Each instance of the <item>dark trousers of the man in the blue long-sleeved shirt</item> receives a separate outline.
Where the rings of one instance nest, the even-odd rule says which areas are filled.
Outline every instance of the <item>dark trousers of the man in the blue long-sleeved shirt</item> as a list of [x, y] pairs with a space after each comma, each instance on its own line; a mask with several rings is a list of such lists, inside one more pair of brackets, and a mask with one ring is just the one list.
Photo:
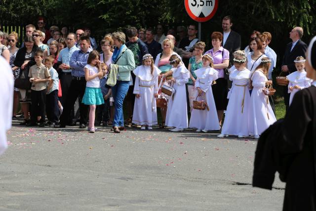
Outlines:
[[85, 91], [86, 81], [84, 77], [75, 78], [72, 80], [69, 90], [68, 96], [65, 102], [63, 113], [61, 114], [59, 121], [61, 126], [65, 126], [69, 121], [71, 111], [74, 108], [74, 104], [79, 98], [79, 111], [80, 111], [80, 124], [87, 124], [87, 116], [88, 116], [88, 109], [87, 105], [81, 103], [84, 91]]

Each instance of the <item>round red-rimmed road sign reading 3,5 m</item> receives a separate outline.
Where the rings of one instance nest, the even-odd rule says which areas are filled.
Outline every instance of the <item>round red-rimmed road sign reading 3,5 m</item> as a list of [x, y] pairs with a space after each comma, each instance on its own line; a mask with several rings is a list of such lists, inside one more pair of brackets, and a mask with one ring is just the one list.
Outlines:
[[184, 0], [189, 16], [197, 22], [211, 19], [218, 6], [218, 0]]

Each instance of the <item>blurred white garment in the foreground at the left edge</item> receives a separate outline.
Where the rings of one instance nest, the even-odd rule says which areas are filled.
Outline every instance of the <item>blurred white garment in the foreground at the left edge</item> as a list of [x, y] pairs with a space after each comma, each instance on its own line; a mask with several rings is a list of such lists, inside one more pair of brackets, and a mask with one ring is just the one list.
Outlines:
[[0, 88], [0, 155], [8, 147], [6, 141], [6, 132], [11, 128], [12, 123], [12, 108], [13, 106], [13, 88], [14, 81], [12, 76], [12, 69], [0, 56], [0, 70], [1, 70], [1, 88]]

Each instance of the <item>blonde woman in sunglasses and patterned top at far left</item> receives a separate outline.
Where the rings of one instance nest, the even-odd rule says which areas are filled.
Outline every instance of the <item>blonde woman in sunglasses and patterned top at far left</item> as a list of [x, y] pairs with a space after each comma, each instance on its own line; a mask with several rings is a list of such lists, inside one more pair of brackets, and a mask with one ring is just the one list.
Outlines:
[[[13, 71], [13, 76], [14, 80], [19, 77], [20, 74], [20, 68], [16, 67], [13, 62], [16, 57], [16, 53], [18, 52], [18, 49], [16, 47], [16, 43], [18, 41], [18, 34], [16, 32], [11, 32], [8, 36], [8, 42], [9, 42], [9, 52], [10, 52], [10, 66]], [[19, 89], [14, 87], [14, 92], [13, 92], [13, 113], [12, 113], [12, 119], [16, 119], [16, 112], [19, 107]]]

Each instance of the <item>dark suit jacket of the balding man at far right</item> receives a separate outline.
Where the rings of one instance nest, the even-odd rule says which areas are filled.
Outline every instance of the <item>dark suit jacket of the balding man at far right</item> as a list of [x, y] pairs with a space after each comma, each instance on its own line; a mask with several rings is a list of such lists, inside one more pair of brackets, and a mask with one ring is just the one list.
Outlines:
[[296, 71], [294, 60], [298, 56], [303, 56], [305, 58], [305, 52], [307, 50], [307, 45], [305, 44], [305, 42], [299, 40], [298, 42], [296, 42], [292, 51], [291, 51], [291, 47], [292, 47], [292, 42], [290, 42], [286, 45], [285, 53], [283, 56], [281, 66], [287, 65], [289, 72], [293, 73]]

